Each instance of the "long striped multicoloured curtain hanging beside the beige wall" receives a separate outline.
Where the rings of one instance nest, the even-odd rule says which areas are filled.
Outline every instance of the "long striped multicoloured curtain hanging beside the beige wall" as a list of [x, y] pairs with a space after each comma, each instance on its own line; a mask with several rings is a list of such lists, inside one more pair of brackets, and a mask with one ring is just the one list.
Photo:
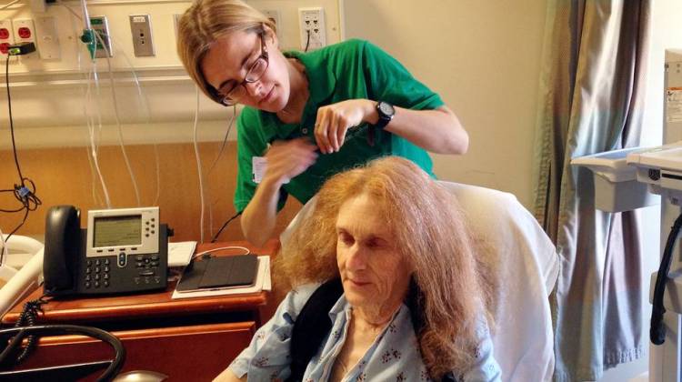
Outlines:
[[595, 380], [642, 356], [637, 214], [595, 209], [589, 170], [570, 160], [637, 146], [650, 0], [549, 0], [537, 117], [535, 213], [557, 244], [558, 381]]

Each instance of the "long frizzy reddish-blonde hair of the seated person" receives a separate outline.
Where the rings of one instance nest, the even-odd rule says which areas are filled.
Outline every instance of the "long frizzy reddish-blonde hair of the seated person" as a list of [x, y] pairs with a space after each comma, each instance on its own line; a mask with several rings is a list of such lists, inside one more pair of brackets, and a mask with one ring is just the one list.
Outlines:
[[[276, 257], [277, 287], [296, 287], [339, 276], [336, 217], [346, 200], [366, 195], [376, 202], [396, 238], [400, 256], [414, 269], [424, 327], [417, 333], [425, 365], [440, 380], [474, 361], [476, 327], [490, 315], [491, 287], [483, 281], [474, 244], [453, 196], [406, 159], [388, 156], [330, 178], [316, 208]], [[417, 312], [413, 312], [415, 314]]]

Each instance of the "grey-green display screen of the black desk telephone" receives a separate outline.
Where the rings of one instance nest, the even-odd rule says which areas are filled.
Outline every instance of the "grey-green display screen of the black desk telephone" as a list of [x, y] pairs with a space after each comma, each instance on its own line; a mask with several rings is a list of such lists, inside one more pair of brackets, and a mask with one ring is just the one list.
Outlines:
[[134, 246], [142, 243], [142, 216], [95, 217], [93, 246]]

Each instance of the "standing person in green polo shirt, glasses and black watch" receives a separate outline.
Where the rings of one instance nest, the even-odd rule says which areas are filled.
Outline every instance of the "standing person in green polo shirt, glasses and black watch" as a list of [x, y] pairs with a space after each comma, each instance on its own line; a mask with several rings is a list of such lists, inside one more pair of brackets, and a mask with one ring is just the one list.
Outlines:
[[[426, 151], [466, 152], [466, 131], [440, 96], [366, 41], [283, 52], [276, 25], [239, 0], [196, 0], [177, 41], [204, 94], [245, 106], [237, 119], [235, 208], [256, 245], [272, 235], [286, 196], [306, 203], [338, 172], [396, 155], [430, 173]], [[351, 128], [356, 133], [346, 135]], [[373, 133], [357, 133], [366, 130]]]

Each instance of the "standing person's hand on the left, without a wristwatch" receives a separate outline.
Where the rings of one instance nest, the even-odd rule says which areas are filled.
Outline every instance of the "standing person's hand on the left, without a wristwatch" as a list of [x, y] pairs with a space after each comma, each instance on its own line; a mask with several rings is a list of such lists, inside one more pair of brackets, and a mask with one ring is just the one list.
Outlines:
[[317, 146], [305, 137], [273, 142], [266, 153], [267, 169], [263, 182], [275, 182], [278, 186], [285, 184], [315, 164], [316, 150]]

